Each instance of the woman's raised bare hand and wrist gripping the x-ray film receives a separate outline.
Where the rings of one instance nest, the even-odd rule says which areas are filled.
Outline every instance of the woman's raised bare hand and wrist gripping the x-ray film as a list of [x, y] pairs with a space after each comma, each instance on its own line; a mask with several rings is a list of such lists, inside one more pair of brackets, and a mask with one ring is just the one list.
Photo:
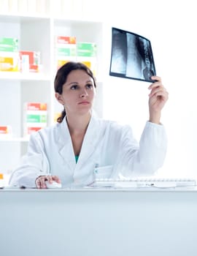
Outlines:
[[169, 98], [169, 93], [163, 86], [160, 77], [152, 76], [151, 79], [156, 80], [156, 82], [148, 87], [151, 90], [149, 94], [150, 121], [160, 124], [161, 110]]

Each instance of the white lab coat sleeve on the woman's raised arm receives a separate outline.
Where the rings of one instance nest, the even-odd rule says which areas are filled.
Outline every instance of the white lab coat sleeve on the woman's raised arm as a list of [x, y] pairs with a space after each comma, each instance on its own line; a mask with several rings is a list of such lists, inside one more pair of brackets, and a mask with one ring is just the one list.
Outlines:
[[[128, 136], [125, 135], [125, 141]], [[162, 124], [153, 124], [147, 121], [139, 146], [134, 150], [129, 143], [125, 143], [125, 162], [129, 168], [124, 170], [125, 176], [153, 176], [157, 170], [163, 166], [166, 157], [167, 138], [166, 131]]]

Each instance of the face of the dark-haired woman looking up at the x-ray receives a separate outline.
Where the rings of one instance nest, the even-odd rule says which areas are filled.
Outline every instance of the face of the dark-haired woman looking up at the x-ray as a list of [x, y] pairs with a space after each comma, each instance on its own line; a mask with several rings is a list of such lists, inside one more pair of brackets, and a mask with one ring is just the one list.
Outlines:
[[79, 69], [69, 73], [62, 94], [56, 93], [55, 97], [64, 106], [67, 115], [84, 114], [92, 109], [95, 94], [93, 79]]

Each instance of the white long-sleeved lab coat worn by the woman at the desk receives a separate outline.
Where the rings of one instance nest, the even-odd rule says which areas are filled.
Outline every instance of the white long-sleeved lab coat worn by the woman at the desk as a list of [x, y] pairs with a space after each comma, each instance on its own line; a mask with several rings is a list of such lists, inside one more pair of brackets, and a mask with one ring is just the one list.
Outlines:
[[76, 163], [72, 140], [64, 118], [61, 124], [34, 132], [28, 152], [12, 173], [12, 186], [35, 187], [41, 175], [56, 175], [63, 187], [87, 185], [99, 178], [152, 176], [166, 156], [166, 132], [163, 125], [147, 121], [139, 143], [131, 127], [92, 116]]

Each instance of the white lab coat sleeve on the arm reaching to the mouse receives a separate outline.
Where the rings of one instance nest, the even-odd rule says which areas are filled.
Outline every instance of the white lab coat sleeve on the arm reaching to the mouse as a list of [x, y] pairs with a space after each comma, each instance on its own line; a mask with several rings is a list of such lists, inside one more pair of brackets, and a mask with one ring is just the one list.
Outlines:
[[34, 188], [38, 176], [49, 174], [49, 166], [42, 138], [39, 132], [35, 132], [29, 140], [27, 154], [9, 178], [9, 185]]

